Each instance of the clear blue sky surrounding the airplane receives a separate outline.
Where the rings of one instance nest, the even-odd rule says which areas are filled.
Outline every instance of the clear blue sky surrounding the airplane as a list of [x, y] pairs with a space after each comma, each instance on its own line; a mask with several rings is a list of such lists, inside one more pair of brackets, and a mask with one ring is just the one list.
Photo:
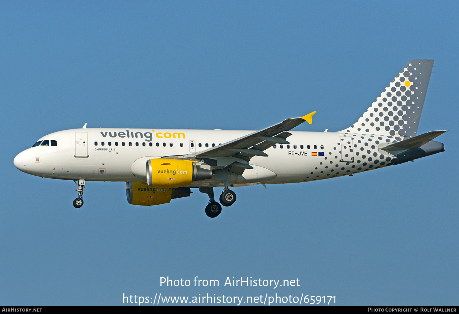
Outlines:
[[[336, 296], [338, 305], [458, 305], [457, 1], [1, 1], [0, 303]], [[312, 183], [134, 207], [124, 183], [17, 170], [40, 137], [88, 127], [338, 131], [411, 59], [435, 59], [418, 132], [445, 152]], [[216, 191], [219, 193], [219, 191]], [[164, 287], [160, 277], [219, 280]], [[300, 279], [229, 287], [227, 277]]]

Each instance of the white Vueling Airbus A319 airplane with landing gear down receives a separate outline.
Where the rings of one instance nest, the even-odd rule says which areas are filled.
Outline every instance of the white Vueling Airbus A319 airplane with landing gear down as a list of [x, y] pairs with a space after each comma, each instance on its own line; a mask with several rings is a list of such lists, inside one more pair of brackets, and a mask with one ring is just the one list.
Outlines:
[[[350, 127], [291, 131], [307, 121], [289, 118], [259, 131], [190, 129], [70, 129], [40, 138], [14, 158], [27, 174], [73, 180], [83, 206], [86, 181], [126, 182], [129, 204], [159, 205], [209, 196], [205, 213], [231, 206], [230, 188], [308, 182], [353, 175], [444, 151], [434, 141], [446, 131], [417, 134], [434, 60], [411, 60]], [[287, 140], [288, 139], [288, 140]], [[215, 201], [213, 188], [223, 187]]]

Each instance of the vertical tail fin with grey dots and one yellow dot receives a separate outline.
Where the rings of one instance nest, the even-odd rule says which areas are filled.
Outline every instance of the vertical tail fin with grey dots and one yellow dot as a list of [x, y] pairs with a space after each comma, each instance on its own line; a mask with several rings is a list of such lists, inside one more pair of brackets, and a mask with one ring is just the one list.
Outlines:
[[351, 127], [340, 132], [416, 136], [434, 60], [411, 60]]

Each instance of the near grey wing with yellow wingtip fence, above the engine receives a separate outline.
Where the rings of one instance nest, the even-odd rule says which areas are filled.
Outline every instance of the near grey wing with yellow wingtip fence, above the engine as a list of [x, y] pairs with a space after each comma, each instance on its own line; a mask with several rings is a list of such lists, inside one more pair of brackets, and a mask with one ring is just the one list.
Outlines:
[[198, 151], [186, 156], [167, 156], [163, 158], [190, 158], [195, 157], [198, 160], [204, 160], [213, 168], [224, 168], [231, 166], [230, 172], [242, 174], [244, 169], [252, 169], [249, 161], [254, 156], [268, 157], [264, 150], [274, 144], [289, 144], [286, 140], [291, 133], [287, 132], [301, 123], [308, 121], [312, 124], [311, 112], [301, 118], [285, 119], [281, 123], [274, 124], [266, 129], [262, 129], [251, 134], [242, 136], [238, 139], [231, 140], [224, 144], [209, 148], [205, 151]]

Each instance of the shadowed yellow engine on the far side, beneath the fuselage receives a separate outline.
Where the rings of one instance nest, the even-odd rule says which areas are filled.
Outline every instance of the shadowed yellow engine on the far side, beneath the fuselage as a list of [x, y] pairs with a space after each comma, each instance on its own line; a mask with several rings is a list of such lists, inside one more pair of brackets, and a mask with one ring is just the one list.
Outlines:
[[171, 199], [190, 196], [190, 188], [176, 189], [150, 187], [145, 182], [126, 182], [126, 196], [132, 205], [159, 205]]

